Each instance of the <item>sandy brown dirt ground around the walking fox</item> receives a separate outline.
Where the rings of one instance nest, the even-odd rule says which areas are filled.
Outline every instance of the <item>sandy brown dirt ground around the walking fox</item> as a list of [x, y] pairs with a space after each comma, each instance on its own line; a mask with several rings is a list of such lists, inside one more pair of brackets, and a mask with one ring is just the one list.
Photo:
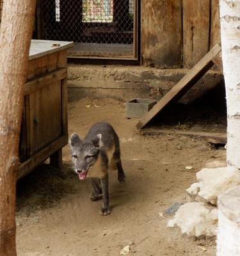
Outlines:
[[115, 256], [127, 244], [128, 255], [215, 255], [215, 237], [182, 235], [179, 228], [166, 227], [172, 217], [159, 212], [191, 200], [185, 189], [206, 161], [225, 159], [222, 147], [174, 134], [140, 134], [134, 128], [137, 120], [125, 118], [124, 103], [113, 99], [70, 95], [68, 118], [69, 134], [81, 137], [95, 122], [115, 127], [127, 180], [118, 184], [116, 170], [111, 171], [113, 211], [100, 216], [101, 200], [89, 200], [90, 182], [78, 179], [69, 147], [63, 148], [62, 170], [44, 164], [17, 185], [19, 256]]

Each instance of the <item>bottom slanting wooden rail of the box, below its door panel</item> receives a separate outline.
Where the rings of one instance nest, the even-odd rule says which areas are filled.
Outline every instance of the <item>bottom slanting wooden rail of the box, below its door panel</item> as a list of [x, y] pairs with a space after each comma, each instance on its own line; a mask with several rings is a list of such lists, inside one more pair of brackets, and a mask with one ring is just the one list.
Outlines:
[[27, 175], [38, 164], [44, 162], [49, 156], [54, 154], [60, 148], [63, 148], [68, 143], [68, 136], [61, 136], [57, 140], [53, 141], [42, 150], [31, 156], [27, 161], [20, 164], [18, 180]]

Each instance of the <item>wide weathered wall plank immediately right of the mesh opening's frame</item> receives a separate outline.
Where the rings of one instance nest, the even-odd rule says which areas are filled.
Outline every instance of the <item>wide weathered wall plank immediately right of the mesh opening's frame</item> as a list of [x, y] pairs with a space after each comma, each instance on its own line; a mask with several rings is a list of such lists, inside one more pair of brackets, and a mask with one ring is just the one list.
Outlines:
[[181, 67], [181, 0], [141, 1], [141, 54], [147, 66]]

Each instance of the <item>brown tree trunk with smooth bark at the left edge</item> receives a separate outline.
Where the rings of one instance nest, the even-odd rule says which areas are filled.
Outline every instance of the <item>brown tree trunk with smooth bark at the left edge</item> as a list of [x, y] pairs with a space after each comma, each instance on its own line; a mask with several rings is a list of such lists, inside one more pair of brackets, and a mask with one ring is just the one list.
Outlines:
[[15, 184], [35, 0], [6, 0], [0, 27], [0, 255], [16, 255]]

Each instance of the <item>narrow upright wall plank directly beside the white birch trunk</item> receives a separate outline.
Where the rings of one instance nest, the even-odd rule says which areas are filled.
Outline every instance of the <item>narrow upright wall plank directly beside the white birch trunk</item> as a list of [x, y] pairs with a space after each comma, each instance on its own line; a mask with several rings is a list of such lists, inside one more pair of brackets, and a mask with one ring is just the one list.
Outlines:
[[214, 47], [216, 44], [221, 42], [221, 31], [220, 31], [220, 10], [219, 0], [211, 1], [211, 40], [210, 47]]

